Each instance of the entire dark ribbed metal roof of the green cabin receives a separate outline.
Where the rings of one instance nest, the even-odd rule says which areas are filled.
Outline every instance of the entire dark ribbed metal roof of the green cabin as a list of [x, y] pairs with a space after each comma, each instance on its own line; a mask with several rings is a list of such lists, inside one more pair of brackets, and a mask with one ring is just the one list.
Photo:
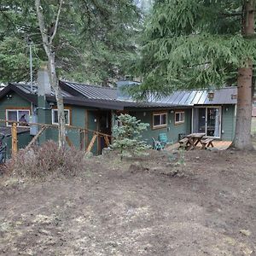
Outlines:
[[[106, 109], [124, 109], [124, 108], [191, 108], [195, 105], [223, 105], [236, 104], [236, 87], [226, 87], [214, 90], [212, 101], [208, 99], [207, 90], [177, 90], [170, 96], [166, 96], [154, 102], [132, 102], [120, 101], [117, 99], [117, 90], [93, 86], [88, 84], [77, 84], [60, 81], [61, 93], [64, 103]], [[9, 84], [0, 91], [0, 98], [14, 90], [27, 101], [37, 105], [37, 86], [33, 86], [31, 92], [28, 84]], [[54, 92], [47, 96], [48, 101], [55, 102]]]

